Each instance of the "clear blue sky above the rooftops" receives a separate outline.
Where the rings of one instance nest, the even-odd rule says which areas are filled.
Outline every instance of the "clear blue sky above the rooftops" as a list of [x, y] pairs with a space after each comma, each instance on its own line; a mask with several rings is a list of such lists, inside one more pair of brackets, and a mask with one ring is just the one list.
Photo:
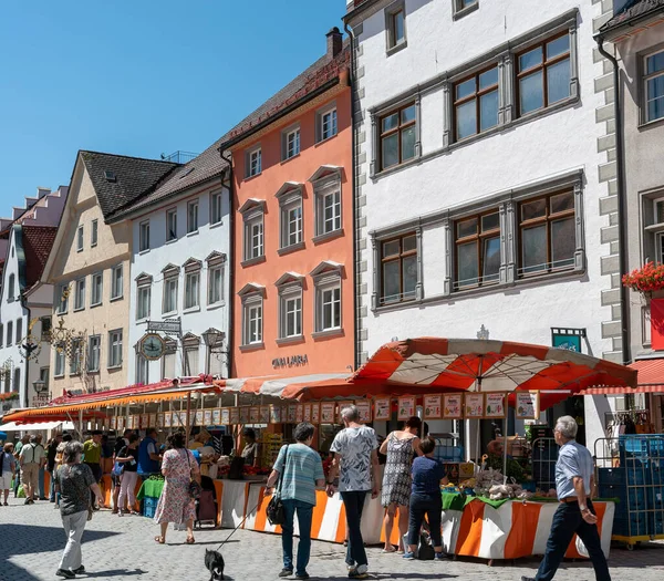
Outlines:
[[0, 215], [79, 149], [200, 153], [325, 51], [344, 0], [6, 2]]

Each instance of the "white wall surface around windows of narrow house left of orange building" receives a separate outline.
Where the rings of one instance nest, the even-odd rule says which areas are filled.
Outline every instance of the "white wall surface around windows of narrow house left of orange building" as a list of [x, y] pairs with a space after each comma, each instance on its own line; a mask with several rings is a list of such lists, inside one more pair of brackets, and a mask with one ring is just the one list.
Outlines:
[[[193, 333], [200, 338], [200, 334], [209, 328], [215, 328], [229, 336], [228, 329], [228, 305], [229, 305], [229, 271], [228, 262], [224, 266], [224, 301], [219, 305], [208, 307], [208, 264], [206, 258], [214, 251], [230, 256], [230, 224], [229, 224], [229, 194], [228, 189], [222, 190], [222, 210], [221, 222], [210, 226], [210, 194], [219, 191], [219, 186], [198, 188], [195, 193], [187, 191], [175, 200], [165, 203], [159, 208], [149, 214], [136, 217], [132, 222], [133, 236], [133, 256], [131, 268], [131, 307], [129, 307], [129, 352], [128, 352], [128, 378], [129, 383], [136, 381], [136, 351], [135, 345], [146, 332], [145, 320], [136, 320], [137, 309], [137, 284], [136, 278], [142, 274], [153, 277], [151, 291], [151, 320], [160, 321], [181, 317], [183, 334]], [[195, 234], [186, 234], [187, 228], [187, 204], [198, 199], [198, 230]], [[166, 211], [177, 208], [177, 239], [166, 242]], [[141, 224], [149, 220], [151, 227], [151, 248], [147, 251], [138, 252]], [[194, 258], [203, 262], [200, 271], [200, 307], [195, 310], [184, 311], [185, 297], [185, 271], [183, 264]], [[163, 291], [164, 276], [162, 270], [167, 264], [180, 267], [178, 279], [178, 310], [177, 313], [169, 313], [163, 317]], [[226, 343], [225, 343], [226, 344]], [[190, 370], [193, 375], [206, 371], [206, 346], [200, 339], [199, 345], [199, 369]], [[151, 383], [160, 381], [162, 361], [148, 363], [148, 381]], [[181, 347], [178, 345], [176, 357], [176, 376], [184, 375]], [[225, 376], [228, 376], [227, 365], [225, 365]]]

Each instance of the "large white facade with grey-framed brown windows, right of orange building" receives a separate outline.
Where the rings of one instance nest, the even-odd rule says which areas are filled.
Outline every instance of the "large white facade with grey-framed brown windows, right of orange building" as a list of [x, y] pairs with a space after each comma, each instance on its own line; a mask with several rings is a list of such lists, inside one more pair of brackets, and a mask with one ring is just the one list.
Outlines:
[[[620, 361], [599, 4], [346, 4], [361, 356], [394, 338], [546, 345], [574, 329], [584, 353]], [[602, 415], [587, 398], [589, 439]]]

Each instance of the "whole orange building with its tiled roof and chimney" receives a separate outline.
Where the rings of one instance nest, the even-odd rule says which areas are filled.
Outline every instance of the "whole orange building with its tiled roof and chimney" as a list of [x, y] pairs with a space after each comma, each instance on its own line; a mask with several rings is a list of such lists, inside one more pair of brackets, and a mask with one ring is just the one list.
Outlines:
[[234, 165], [231, 376], [354, 366], [350, 53], [328, 54], [221, 145]]

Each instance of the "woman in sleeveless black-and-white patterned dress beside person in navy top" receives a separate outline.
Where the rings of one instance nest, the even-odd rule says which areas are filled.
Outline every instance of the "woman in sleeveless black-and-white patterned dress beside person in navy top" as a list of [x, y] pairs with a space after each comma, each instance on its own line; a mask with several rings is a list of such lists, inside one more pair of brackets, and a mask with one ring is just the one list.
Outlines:
[[411, 465], [413, 456], [422, 456], [419, 449], [419, 428], [422, 421], [417, 416], [408, 418], [403, 430], [392, 432], [381, 445], [381, 454], [387, 456], [383, 474], [383, 495], [381, 504], [385, 508], [385, 548], [383, 552], [394, 552], [390, 542], [394, 527], [394, 516], [398, 507], [398, 552], [404, 550], [404, 535], [408, 532], [408, 502], [411, 497]]

